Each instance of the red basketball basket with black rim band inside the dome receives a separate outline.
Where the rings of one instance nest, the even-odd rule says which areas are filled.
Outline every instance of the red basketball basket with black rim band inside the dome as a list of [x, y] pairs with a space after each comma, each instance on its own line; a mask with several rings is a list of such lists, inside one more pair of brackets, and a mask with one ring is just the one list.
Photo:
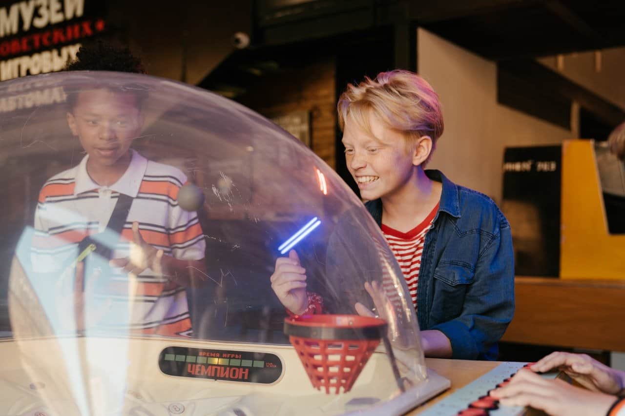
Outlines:
[[386, 334], [384, 320], [359, 315], [305, 315], [284, 322], [312, 386], [349, 392]]

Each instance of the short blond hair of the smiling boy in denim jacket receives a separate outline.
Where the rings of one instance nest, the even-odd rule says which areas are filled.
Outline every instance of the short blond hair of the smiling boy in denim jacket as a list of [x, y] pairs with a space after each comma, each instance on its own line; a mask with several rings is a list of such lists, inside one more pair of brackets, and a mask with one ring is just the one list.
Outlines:
[[349, 84], [339, 97], [337, 110], [341, 131], [349, 117], [370, 133], [369, 114], [373, 112], [407, 139], [429, 136], [432, 147], [444, 127], [438, 94], [425, 79], [401, 69], [380, 72], [374, 80], [365, 77], [358, 85]]

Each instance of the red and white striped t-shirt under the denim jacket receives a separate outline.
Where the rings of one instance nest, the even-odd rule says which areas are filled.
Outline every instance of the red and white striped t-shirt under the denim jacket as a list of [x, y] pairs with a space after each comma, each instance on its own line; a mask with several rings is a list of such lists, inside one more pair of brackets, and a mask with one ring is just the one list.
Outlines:
[[[408, 285], [408, 292], [412, 298], [414, 309], [417, 308], [417, 282], [419, 281], [419, 269], [421, 268], [421, 254], [427, 231], [434, 224], [434, 217], [438, 211], [439, 204], [422, 220], [421, 224], [408, 232], [401, 232], [387, 225], [382, 224], [382, 234], [391, 247], [392, 253], [401, 267], [401, 271]], [[390, 280], [384, 279], [384, 289], [386, 293], [392, 293], [392, 288], [386, 287], [392, 284]]]

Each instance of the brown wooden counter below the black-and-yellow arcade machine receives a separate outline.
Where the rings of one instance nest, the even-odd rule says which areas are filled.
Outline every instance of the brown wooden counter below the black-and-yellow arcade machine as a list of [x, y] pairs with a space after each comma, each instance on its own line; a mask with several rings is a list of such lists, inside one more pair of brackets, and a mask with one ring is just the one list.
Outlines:
[[514, 284], [516, 310], [502, 341], [625, 352], [625, 280], [516, 277]]

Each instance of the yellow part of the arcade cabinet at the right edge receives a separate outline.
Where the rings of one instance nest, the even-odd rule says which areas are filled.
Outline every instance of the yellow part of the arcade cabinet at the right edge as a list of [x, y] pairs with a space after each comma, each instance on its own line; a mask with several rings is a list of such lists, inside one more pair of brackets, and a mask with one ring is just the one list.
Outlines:
[[561, 279], [625, 280], [625, 164], [605, 145], [562, 145]]

